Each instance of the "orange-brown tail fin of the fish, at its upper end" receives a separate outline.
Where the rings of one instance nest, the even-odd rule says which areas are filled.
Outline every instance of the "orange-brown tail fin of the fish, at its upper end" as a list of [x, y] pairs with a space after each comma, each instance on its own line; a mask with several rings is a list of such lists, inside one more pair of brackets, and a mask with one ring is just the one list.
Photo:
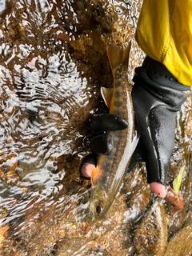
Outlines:
[[122, 63], [124, 66], [127, 66], [127, 69], [128, 69], [130, 46], [131, 46], [131, 42], [129, 42], [126, 49], [121, 49], [118, 46], [111, 46], [111, 45], [106, 46], [106, 54], [109, 58], [110, 67], [113, 74], [116, 70], [116, 67], [120, 63]]

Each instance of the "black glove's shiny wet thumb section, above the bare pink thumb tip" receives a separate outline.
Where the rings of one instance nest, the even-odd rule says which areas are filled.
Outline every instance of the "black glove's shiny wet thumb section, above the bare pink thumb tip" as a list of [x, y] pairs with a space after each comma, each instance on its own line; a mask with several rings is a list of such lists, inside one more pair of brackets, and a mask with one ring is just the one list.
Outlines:
[[[150, 111], [150, 126], [146, 161], [147, 181], [166, 185], [170, 158], [174, 150], [175, 113], [166, 106], [157, 106]], [[171, 125], [169, 125], [171, 124]]]

